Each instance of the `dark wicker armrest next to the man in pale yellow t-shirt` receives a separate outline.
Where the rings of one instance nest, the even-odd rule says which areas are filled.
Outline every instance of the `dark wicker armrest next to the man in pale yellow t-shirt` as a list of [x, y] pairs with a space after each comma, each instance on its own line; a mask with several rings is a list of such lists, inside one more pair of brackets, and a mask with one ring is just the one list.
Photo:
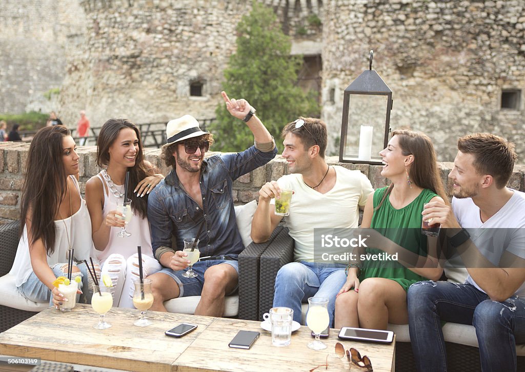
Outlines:
[[262, 253], [259, 276], [259, 318], [274, 303], [275, 277], [283, 265], [293, 261], [295, 241], [288, 235], [288, 228], [283, 227], [271, 244]]

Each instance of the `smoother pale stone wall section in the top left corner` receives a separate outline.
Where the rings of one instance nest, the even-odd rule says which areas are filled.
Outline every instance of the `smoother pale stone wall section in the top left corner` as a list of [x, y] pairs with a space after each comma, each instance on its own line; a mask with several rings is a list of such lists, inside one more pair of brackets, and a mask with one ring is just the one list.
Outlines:
[[84, 22], [77, 1], [0, 2], [0, 112], [59, 112], [43, 93], [60, 88]]

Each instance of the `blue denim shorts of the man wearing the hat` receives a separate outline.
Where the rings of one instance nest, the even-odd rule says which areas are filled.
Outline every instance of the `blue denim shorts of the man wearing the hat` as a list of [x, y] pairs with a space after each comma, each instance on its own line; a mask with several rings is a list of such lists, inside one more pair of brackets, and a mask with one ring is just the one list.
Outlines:
[[[228, 254], [228, 257], [237, 258], [238, 254]], [[218, 265], [220, 263], [226, 263], [232, 266], [235, 269], [235, 271], [237, 271], [237, 275], [239, 275], [239, 261], [237, 260], [197, 261], [193, 264], [193, 271], [197, 273], [197, 277], [195, 278], [183, 277], [182, 274], [186, 272], [186, 269], [174, 271], [172, 269], [163, 268], [159, 272], [170, 275], [170, 277], [172, 277], [173, 280], [177, 282], [178, 289], [180, 291], [180, 294], [178, 295], [179, 297], [200, 296], [202, 293], [202, 288], [204, 286], [204, 272], [208, 268], [211, 268], [212, 266]], [[237, 291], [237, 287], [238, 285], [231, 293], [227, 293], [226, 295], [235, 293], [235, 291]]]

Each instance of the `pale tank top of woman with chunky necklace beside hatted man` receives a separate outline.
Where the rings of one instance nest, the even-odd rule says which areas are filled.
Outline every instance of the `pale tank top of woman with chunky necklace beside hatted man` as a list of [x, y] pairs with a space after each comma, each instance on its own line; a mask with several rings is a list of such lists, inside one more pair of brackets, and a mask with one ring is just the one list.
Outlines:
[[[104, 217], [110, 210], [117, 209], [118, 198], [113, 195], [109, 189], [109, 185], [102, 176], [102, 172], [97, 175], [104, 185], [104, 208], [102, 214]], [[114, 185], [117, 190], [123, 194], [124, 185]], [[119, 253], [124, 258], [130, 257], [133, 253], [137, 253], [137, 246], [141, 246], [142, 254], [153, 257], [153, 250], [151, 249], [151, 235], [150, 225], [148, 224], [147, 218], [141, 218], [140, 215], [134, 214], [131, 221], [126, 226], [126, 231], [131, 233], [131, 236], [125, 238], [119, 238], [117, 233], [120, 231], [120, 227], [111, 227], [109, 233], [109, 241], [106, 249], [103, 251], [97, 251], [97, 258], [100, 262], [104, 262], [110, 254]]]

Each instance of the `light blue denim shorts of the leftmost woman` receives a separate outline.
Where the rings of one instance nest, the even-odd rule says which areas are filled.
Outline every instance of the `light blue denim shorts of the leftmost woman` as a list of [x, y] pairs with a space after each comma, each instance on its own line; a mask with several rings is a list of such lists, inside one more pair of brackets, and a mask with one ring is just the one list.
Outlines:
[[[64, 267], [64, 265], [66, 265], [67, 267], [67, 263], [57, 263], [53, 265], [51, 270], [53, 270], [55, 277], [58, 278], [58, 277], [67, 276], [66, 273], [62, 270], [62, 267]], [[89, 287], [87, 283], [88, 273], [87, 273], [85, 264], [79, 263], [76, 266], [78, 267], [82, 275], [82, 281], [78, 284], [78, 289], [82, 290], [82, 288], [85, 285]], [[22, 285], [18, 287], [18, 291], [22, 293], [22, 295], [26, 297], [26, 299], [28, 299], [29, 301], [49, 302], [49, 306], [51, 307], [54, 306], [53, 299], [51, 299], [51, 291], [49, 290], [49, 288], [47, 288], [47, 286], [43, 282], [40, 281], [40, 279], [38, 279], [34, 271], [31, 272], [26, 282], [22, 283]], [[91, 299], [91, 296], [88, 297], [88, 292], [90, 291], [84, 291], [84, 292], [86, 293], [83, 293], [80, 296], [80, 299], [78, 299], [77, 297], [78, 302], [87, 303], [88, 299]]]

